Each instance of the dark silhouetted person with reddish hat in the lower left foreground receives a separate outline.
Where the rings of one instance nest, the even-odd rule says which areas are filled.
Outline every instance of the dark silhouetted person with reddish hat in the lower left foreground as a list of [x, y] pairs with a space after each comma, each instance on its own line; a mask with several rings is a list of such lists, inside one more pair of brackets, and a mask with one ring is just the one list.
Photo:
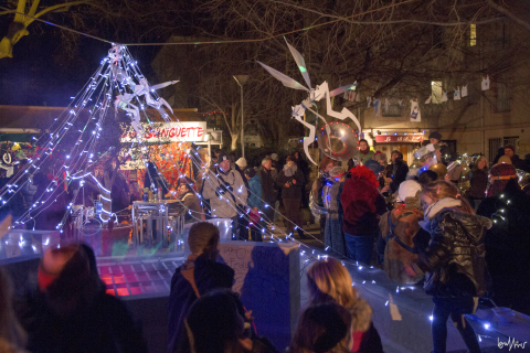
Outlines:
[[147, 352], [125, 304], [107, 295], [86, 245], [49, 248], [19, 307], [30, 352]]

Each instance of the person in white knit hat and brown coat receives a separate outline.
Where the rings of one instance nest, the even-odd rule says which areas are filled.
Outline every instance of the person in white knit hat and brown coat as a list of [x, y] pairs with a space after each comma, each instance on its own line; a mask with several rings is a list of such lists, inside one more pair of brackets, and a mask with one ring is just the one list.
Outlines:
[[416, 181], [402, 182], [399, 190], [401, 203], [383, 214], [379, 222], [382, 236], [378, 242], [378, 253], [384, 254], [386, 276], [399, 284], [414, 285], [423, 278], [411, 278], [405, 272], [405, 266], [417, 259], [417, 254], [425, 250], [431, 239], [428, 232], [418, 224], [423, 220], [421, 192], [422, 185]]

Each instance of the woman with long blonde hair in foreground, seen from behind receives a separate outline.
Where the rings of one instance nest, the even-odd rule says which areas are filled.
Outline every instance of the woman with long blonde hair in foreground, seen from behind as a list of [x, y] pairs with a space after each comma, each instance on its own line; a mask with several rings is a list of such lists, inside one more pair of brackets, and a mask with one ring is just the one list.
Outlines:
[[381, 338], [372, 323], [372, 308], [352, 287], [350, 274], [330, 257], [315, 261], [307, 270], [312, 306], [336, 302], [351, 314], [352, 352], [383, 352]]

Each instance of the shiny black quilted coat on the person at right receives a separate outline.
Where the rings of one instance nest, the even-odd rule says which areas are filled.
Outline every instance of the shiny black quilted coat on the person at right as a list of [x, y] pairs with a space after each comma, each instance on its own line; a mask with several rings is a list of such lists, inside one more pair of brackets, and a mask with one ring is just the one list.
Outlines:
[[426, 282], [432, 285], [425, 286], [427, 295], [462, 298], [486, 293], [484, 240], [490, 227], [490, 220], [456, 208], [443, 208], [434, 216], [428, 227], [431, 243], [414, 266], [416, 272], [431, 272]]

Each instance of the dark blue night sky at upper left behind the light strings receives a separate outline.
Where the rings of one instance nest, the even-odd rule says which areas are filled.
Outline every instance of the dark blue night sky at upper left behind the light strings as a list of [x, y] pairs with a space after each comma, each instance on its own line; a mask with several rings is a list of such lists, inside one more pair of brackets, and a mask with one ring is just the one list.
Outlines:
[[[0, 23], [7, 31], [7, 17]], [[66, 106], [75, 96], [110, 45], [80, 35], [77, 52], [68, 57], [61, 50], [61, 30], [44, 23], [29, 26], [30, 35], [13, 47], [13, 57], [0, 58], [0, 105]], [[129, 49], [141, 72], [155, 79], [150, 61], [158, 49]]]

